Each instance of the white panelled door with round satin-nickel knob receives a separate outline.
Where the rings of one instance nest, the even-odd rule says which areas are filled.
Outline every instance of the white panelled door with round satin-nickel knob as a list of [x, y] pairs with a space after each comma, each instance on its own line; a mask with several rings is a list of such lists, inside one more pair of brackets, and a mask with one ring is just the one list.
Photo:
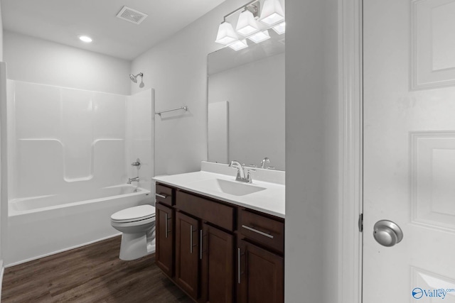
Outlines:
[[455, 0], [363, 13], [363, 303], [455, 302]]

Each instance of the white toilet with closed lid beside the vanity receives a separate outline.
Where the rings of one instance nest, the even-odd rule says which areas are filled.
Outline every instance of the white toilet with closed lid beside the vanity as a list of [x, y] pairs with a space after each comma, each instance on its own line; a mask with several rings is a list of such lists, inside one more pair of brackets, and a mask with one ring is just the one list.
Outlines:
[[117, 211], [111, 225], [122, 231], [121, 260], [135, 260], [155, 252], [155, 207], [149, 204]]

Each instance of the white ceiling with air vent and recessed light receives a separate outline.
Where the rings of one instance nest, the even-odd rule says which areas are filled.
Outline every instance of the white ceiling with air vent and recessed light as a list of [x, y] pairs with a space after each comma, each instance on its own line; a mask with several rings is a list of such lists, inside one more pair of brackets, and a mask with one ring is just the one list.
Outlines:
[[[224, 1], [1, 0], [1, 14], [4, 30], [132, 60]], [[123, 6], [149, 16], [139, 25], [121, 20]]]

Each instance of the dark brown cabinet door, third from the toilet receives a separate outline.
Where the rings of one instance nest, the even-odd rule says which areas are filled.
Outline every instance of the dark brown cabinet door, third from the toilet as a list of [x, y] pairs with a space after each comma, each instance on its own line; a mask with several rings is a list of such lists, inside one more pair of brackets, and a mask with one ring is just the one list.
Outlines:
[[200, 247], [203, 302], [233, 302], [234, 236], [203, 224]]

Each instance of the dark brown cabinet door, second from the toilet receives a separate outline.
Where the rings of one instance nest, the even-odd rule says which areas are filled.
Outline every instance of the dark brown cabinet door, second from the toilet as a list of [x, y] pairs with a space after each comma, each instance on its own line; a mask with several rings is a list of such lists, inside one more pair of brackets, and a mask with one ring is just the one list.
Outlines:
[[191, 297], [198, 298], [199, 221], [176, 212], [176, 282]]

